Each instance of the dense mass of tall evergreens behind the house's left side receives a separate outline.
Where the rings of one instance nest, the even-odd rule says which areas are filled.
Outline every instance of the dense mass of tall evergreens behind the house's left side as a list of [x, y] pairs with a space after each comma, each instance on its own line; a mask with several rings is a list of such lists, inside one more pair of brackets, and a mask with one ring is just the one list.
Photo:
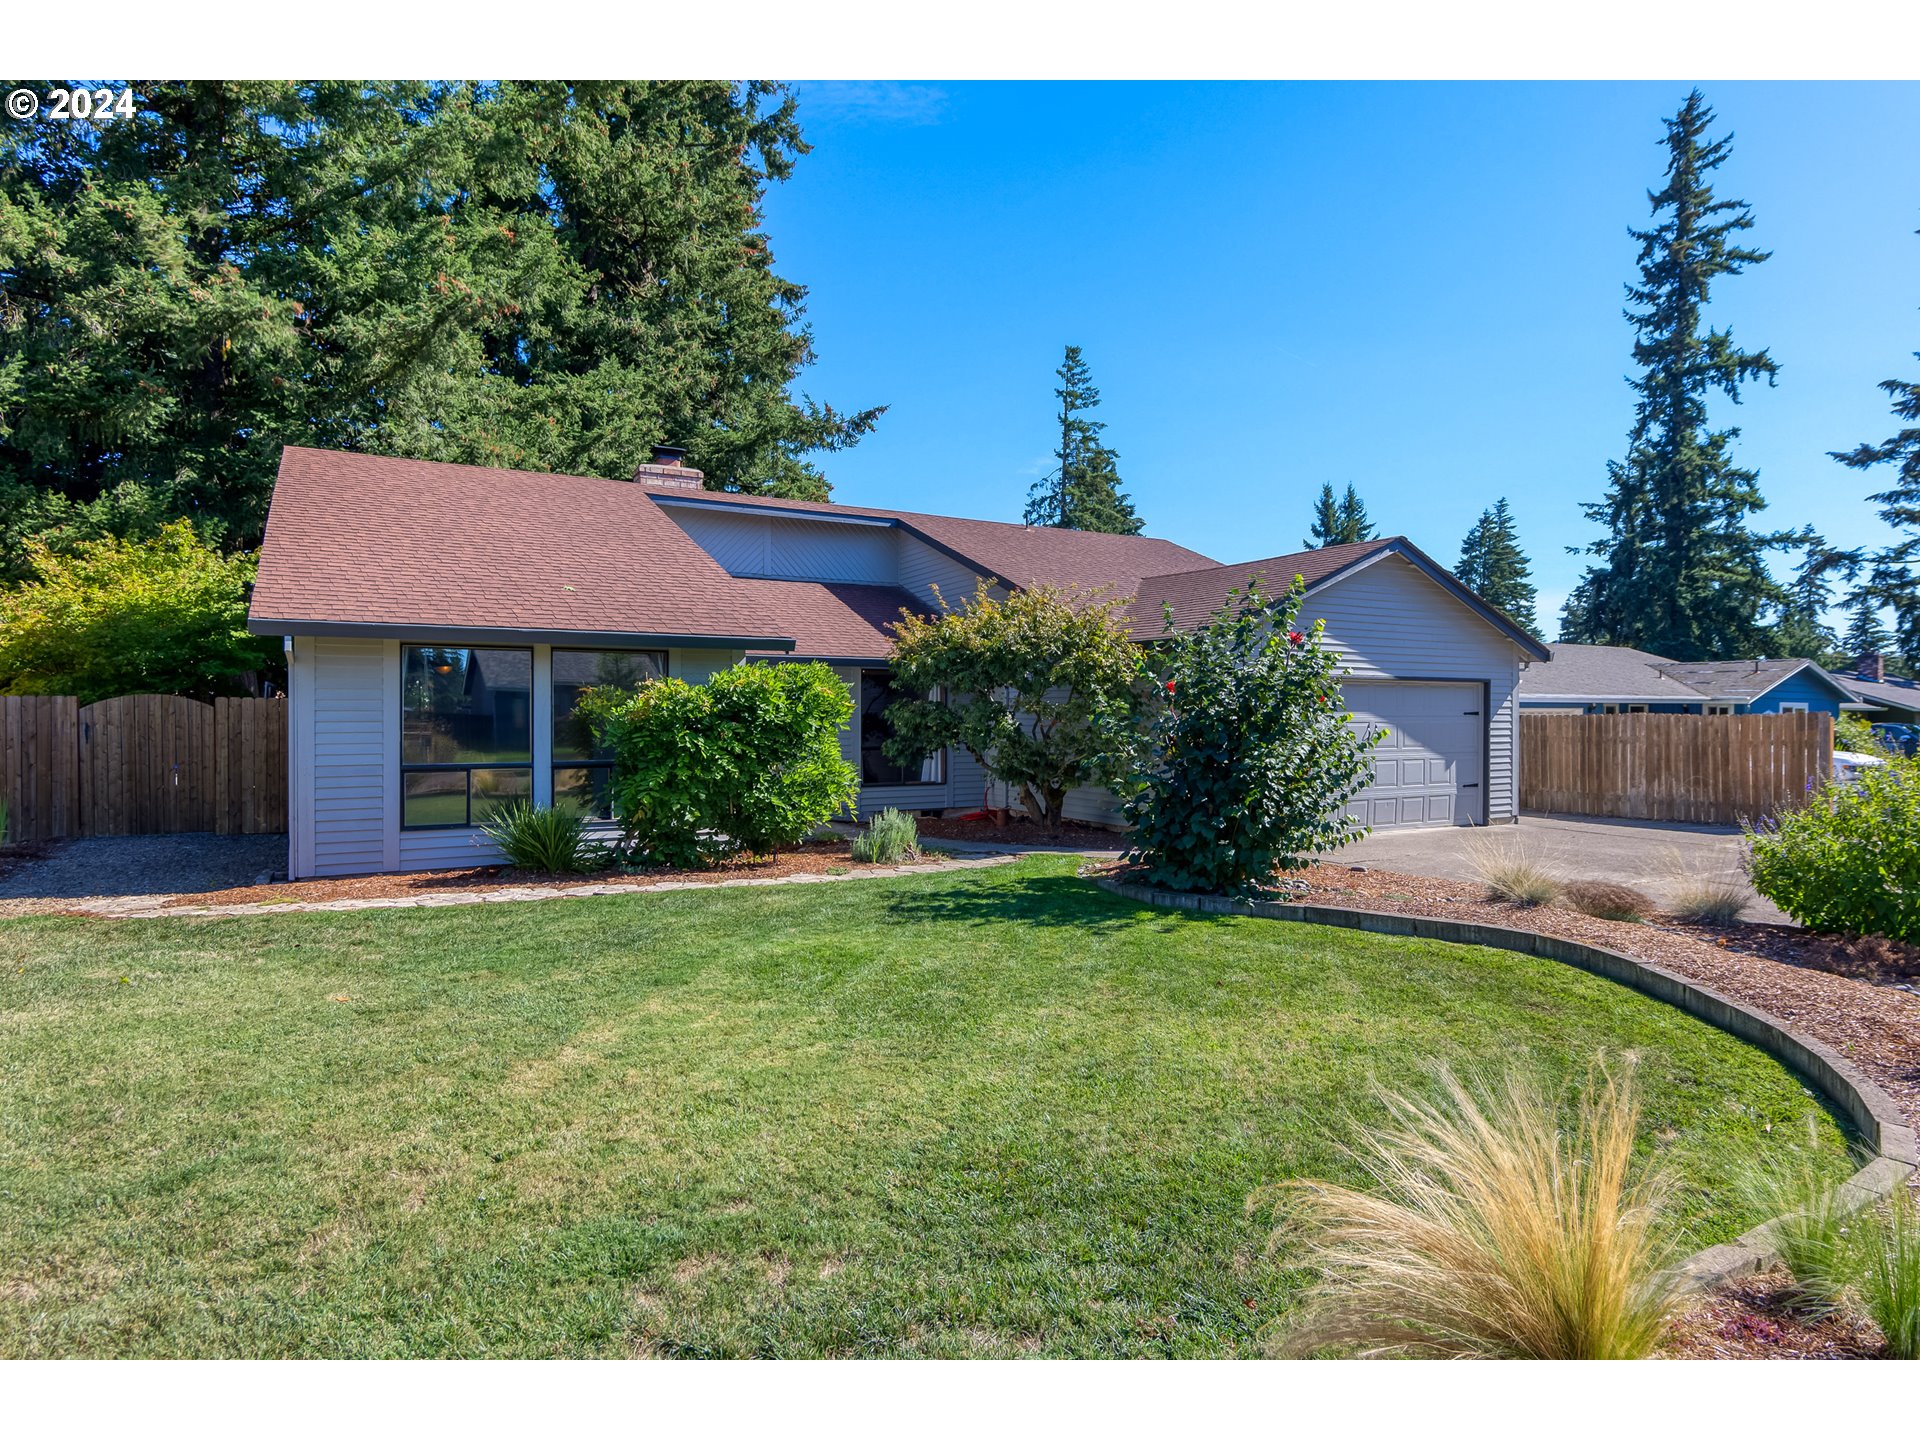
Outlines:
[[0, 127], [0, 578], [36, 530], [257, 541], [282, 444], [826, 495], [766, 83], [134, 81]]

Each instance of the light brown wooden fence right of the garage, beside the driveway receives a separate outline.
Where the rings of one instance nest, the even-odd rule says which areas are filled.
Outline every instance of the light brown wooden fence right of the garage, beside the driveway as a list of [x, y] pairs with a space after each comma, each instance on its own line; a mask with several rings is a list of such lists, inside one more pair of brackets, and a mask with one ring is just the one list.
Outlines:
[[1832, 768], [1830, 714], [1521, 714], [1523, 810], [1736, 826]]

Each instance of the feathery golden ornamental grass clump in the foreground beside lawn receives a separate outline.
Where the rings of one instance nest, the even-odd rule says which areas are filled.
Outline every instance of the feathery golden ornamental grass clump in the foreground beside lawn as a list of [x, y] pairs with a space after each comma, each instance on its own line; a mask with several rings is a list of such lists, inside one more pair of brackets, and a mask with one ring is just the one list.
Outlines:
[[1277, 1248], [1321, 1281], [1283, 1354], [1638, 1359], [1678, 1300], [1661, 1233], [1670, 1181], [1634, 1165], [1632, 1071], [1597, 1064], [1572, 1102], [1513, 1069], [1440, 1100], [1382, 1094], [1354, 1150], [1373, 1187], [1279, 1187]]

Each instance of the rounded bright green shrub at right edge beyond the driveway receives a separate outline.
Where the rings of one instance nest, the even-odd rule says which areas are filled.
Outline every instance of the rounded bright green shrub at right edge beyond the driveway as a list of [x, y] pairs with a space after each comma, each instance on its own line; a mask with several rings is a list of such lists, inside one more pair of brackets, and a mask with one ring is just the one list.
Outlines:
[[1920, 941], [1920, 760], [1868, 766], [1749, 826], [1747, 874], [1811, 929]]

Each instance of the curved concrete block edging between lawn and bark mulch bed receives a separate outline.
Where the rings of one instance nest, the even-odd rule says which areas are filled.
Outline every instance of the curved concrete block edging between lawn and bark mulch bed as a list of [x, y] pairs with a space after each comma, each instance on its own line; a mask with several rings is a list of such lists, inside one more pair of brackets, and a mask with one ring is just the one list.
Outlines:
[[[1365, 929], [1375, 935], [1404, 935], [1423, 941], [1452, 941], [1455, 945], [1486, 945], [1496, 950], [1517, 950], [1521, 954], [1557, 960], [1576, 970], [1617, 981], [1642, 995], [1663, 1000], [1676, 1010], [1684, 1010], [1695, 1020], [1705, 1020], [1715, 1029], [1722, 1029], [1734, 1039], [1764, 1050], [1788, 1069], [1795, 1071], [1814, 1091], [1818, 1091], [1849, 1123], [1872, 1152], [1872, 1160], [1853, 1173], [1839, 1187], [1839, 1204], [1845, 1210], [1859, 1210], [1882, 1200], [1912, 1175], [1920, 1154], [1914, 1150], [1914, 1129], [1907, 1123], [1893, 1096], [1874, 1085], [1839, 1052], [1795, 1031], [1782, 1020], [1740, 1004], [1718, 991], [1695, 985], [1661, 966], [1634, 960], [1619, 950], [1580, 941], [1563, 941], [1555, 935], [1538, 935], [1530, 929], [1509, 929], [1507, 925], [1482, 925], [1467, 920], [1440, 920], [1434, 916], [1402, 916], [1382, 910], [1342, 910], [1331, 904], [1286, 904], [1284, 900], [1229, 900], [1219, 895], [1185, 895], [1181, 891], [1162, 891], [1150, 885], [1133, 885], [1121, 879], [1100, 879], [1098, 885], [1114, 895], [1144, 904], [1171, 906], [1177, 910], [1198, 910], [1215, 916], [1256, 916], [1261, 920], [1296, 920], [1311, 925], [1342, 925], [1346, 929]], [[1766, 1221], [1738, 1240], [1711, 1246], [1688, 1258], [1680, 1271], [1693, 1288], [1711, 1288], [1738, 1275], [1763, 1269], [1776, 1258], [1774, 1227]]]

